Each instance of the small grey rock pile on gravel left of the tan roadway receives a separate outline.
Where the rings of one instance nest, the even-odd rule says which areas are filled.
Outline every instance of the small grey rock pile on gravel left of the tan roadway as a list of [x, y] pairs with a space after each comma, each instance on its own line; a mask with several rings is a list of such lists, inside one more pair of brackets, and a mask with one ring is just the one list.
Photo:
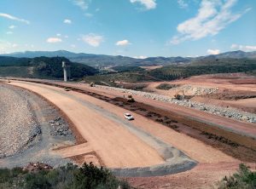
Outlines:
[[71, 129], [69, 129], [68, 123], [61, 117], [55, 117], [54, 120], [49, 121], [50, 135], [72, 135]]

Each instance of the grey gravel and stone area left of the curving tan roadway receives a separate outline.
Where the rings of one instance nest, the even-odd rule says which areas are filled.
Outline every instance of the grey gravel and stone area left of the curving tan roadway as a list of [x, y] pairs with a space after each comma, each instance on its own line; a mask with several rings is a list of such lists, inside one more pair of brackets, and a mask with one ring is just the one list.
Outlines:
[[0, 83], [0, 112], [0, 167], [70, 162], [51, 153], [52, 148], [75, 142], [54, 106], [28, 90]]

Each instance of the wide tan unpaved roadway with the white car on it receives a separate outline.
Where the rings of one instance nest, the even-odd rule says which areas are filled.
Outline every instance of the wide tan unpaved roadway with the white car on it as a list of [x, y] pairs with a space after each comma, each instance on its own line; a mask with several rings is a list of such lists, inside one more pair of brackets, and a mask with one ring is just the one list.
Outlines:
[[[123, 117], [124, 112], [126, 112], [125, 109], [86, 94], [64, 91], [44, 84], [26, 82], [12, 82], [11, 84], [37, 92], [60, 107], [108, 167], [135, 167], [163, 163], [163, 159], [152, 147], [132, 135], [128, 129], [119, 127], [120, 123], [102, 116], [89, 104], [83, 106], [81, 102], [90, 101], [95, 106], [101, 107], [102, 110], [108, 110], [108, 112], [118, 116], [119, 120], [129, 123]], [[75, 100], [74, 97], [79, 101]], [[132, 121], [133, 126], [177, 147], [199, 163], [236, 161], [236, 159], [188, 135], [168, 129], [160, 123], [155, 123], [138, 114], [133, 115], [135, 117], [135, 120]]]

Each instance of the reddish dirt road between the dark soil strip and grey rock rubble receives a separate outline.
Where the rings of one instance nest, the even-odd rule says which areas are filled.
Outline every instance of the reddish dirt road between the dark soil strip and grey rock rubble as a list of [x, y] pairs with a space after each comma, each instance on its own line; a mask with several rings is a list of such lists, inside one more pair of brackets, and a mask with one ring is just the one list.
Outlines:
[[[59, 83], [59, 82], [55, 82]], [[63, 83], [60, 83], [63, 84]], [[91, 92], [96, 92], [98, 94], [103, 94], [108, 97], [114, 98], [114, 97], [123, 97], [124, 95], [127, 96], [128, 93], [122, 93], [120, 91], [116, 90], [106, 90], [106, 89], [100, 89], [100, 88], [90, 88], [88, 84], [76, 84], [76, 83], [67, 83], [65, 84], [67, 86], [76, 87], [78, 89], [86, 89], [90, 90]], [[199, 110], [191, 109], [184, 106], [178, 106], [175, 104], [165, 103], [158, 100], [150, 100], [147, 98], [144, 98], [142, 96], [134, 96], [135, 99], [138, 102], [143, 102], [148, 105], [153, 105], [156, 107], [160, 107], [164, 110], [170, 111], [170, 112], [176, 112], [180, 114], [183, 117], [189, 117], [192, 120], [200, 121], [201, 123], [211, 123], [212, 125], [215, 125], [216, 127], [219, 127], [221, 129], [227, 129], [229, 131], [235, 132], [237, 134], [241, 135], [247, 135], [250, 137], [256, 137], [256, 129], [255, 124], [253, 123], [243, 123], [236, 121], [234, 119], [231, 119], [229, 117], [220, 117], [217, 115], [214, 115], [212, 113], [208, 112], [202, 112]]]

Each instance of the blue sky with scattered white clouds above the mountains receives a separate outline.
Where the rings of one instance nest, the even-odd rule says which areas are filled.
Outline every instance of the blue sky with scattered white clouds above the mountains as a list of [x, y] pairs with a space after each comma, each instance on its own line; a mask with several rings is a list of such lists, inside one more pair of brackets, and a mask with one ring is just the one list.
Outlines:
[[255, 0], [1, 0], [0, 54], [197, 56], [256, 50]]

